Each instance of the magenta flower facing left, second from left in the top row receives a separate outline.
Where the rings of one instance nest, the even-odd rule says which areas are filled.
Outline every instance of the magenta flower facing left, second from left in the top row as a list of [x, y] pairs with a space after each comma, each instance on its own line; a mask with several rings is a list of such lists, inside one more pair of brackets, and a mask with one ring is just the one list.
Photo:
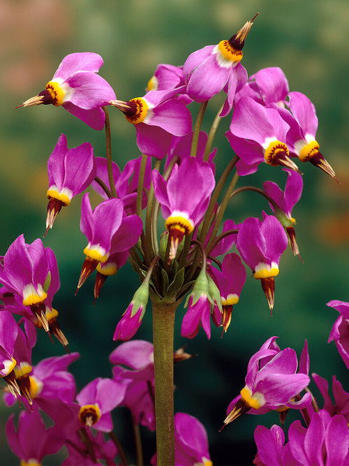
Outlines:
[[191, 112], [179, 99], [171, 99], [176, 93], [176, 89], [149, 91], [131, 101], [110, 101], [135, 125], [136, 141], [142, 154], [163, 159], [172, 135], [184, 136], [191, 132]]

